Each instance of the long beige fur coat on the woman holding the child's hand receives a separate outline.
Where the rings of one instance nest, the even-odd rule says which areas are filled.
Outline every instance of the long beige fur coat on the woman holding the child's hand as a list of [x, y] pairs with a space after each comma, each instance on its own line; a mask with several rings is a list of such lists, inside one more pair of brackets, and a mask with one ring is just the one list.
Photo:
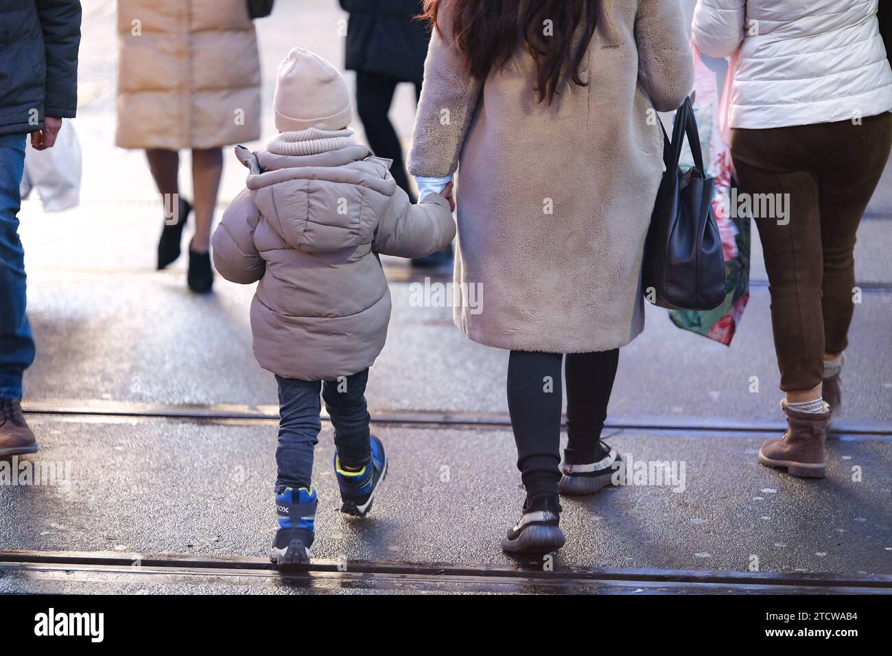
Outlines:
[[458, 169], [455, 320], [485, 345], [606, 351], [644, 327], [641, 254], [663, 170], [654, 109], [681, 105], [693, 62], [679, 0], [596, 4], [588, 86], [550, 106], [536, 103], [525, 50], [471, 78], [442, 6], [409, 170]]

